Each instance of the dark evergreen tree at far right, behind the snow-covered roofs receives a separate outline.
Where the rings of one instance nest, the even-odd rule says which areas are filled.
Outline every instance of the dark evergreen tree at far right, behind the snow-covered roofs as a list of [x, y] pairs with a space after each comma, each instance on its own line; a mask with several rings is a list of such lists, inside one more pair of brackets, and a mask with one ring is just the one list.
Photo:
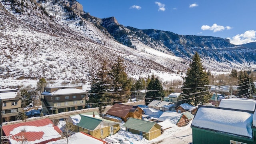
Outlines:
[[255, 84], [246, 71], [240, 72], [238, 80], [238, 96], [243, 98], [249, 96], [250, 92], [255, 92]]

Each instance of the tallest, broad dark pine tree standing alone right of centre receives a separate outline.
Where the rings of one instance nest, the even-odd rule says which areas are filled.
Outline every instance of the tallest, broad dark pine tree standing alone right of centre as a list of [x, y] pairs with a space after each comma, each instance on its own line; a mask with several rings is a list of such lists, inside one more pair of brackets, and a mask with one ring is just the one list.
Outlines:
[[186, 72], [186, 77], [184, 78], [184, 102], [192, 103], [198, 105], [199, 103], [204, 104], [208, 101], [210, 97], [209, 78], [207, 73], [203, 70], [201, 59], [199, 54], [192, 57], [192, 62], [190, 63], [190, 68]]

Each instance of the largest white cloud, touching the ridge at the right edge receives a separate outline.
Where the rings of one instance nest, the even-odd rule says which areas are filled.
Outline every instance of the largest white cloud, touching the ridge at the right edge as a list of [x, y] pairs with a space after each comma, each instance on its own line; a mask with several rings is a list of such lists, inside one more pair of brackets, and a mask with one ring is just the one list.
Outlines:
[[256, 42], [256, 30], [248, 30], [243, 34], [238, 34], [230, 39], [232, 44], [246, 44], [249, 42]]

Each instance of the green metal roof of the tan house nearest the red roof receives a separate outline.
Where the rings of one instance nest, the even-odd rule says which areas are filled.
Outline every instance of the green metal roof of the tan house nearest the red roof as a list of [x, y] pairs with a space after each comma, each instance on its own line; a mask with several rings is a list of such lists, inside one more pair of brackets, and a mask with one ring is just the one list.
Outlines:
[[102, 120], [98, 118], [92, 118], [92, 117], [83, 116], [83, 115], [80, 115], [80, 117], [81, 117], [81, 120], [76, 125], [82, 128], [86, 128], [88, 130], [95, 130], [97, 126], [102, 122]]

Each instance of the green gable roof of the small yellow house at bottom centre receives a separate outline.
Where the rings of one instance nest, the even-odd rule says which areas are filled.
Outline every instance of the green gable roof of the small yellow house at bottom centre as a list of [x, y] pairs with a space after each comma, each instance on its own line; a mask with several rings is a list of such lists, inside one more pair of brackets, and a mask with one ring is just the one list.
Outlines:
[[136, 118], [129, 118], [126, 123], [123, 125], [126, 128], [131, 128], [141, 132], [150, 132], [151, 128], [157, 124], [156, 122], [148, 120], [140, 120]]

